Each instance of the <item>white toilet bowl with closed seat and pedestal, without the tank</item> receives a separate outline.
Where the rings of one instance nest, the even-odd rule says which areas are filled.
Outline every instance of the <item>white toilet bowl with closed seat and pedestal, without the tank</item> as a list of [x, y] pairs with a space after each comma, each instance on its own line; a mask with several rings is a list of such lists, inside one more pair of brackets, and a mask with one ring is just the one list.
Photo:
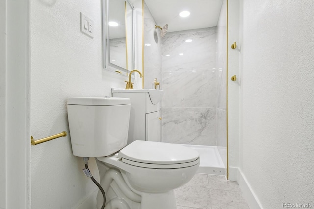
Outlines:
[[[189, 148], [150, 141], [134, 141], [114, 155], [96, 159], [98, 167], [109, 165], [121, 172], [126, 185], [141, 197], [143, 209], [175, 209], [173, 190], [193, 178], [200, 162]], [[132, 198], [125, 199], [132, 205]]]

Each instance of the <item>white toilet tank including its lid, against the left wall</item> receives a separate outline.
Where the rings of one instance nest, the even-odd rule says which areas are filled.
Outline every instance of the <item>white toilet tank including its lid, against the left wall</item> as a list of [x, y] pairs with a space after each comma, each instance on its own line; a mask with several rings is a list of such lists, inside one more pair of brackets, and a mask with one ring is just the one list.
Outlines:
[[68, 120], [73, 155], [111, 155], [128, 141], [129, 98], [70, 97]]

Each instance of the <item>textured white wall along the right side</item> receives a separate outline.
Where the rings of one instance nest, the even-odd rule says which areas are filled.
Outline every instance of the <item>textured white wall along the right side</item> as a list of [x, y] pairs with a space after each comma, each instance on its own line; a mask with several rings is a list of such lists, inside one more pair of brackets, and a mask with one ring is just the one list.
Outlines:
[[240, 169], [263, 208], [314, 205], [314, 1], [243, 2]]

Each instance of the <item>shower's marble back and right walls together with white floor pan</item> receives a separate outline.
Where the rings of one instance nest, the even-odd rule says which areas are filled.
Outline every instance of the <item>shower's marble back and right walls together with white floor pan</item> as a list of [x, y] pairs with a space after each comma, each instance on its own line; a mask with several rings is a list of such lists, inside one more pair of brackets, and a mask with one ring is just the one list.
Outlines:
[[199, 151], [199, 173], [226, 175], [226, 48], [219, 49], [219, 35], [215, 26], [162, 39], [162, 141]]

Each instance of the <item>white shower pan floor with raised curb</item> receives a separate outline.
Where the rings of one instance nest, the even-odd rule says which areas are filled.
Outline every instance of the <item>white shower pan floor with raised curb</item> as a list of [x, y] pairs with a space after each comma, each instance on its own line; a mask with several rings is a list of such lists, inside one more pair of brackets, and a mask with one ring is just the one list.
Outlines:
[[226, 168], [216, 146], [182, 145], [199, 152], [201, 161], [197, 173], [221, 176], [226, 175]]

